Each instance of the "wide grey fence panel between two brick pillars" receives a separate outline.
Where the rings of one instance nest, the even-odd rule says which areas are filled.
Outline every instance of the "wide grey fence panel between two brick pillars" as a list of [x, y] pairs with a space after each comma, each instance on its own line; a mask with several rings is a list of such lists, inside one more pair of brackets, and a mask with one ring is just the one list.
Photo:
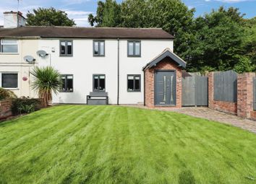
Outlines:
[[237, 102], [237, 73], [235, 71], [214, 73], [214, 100]]

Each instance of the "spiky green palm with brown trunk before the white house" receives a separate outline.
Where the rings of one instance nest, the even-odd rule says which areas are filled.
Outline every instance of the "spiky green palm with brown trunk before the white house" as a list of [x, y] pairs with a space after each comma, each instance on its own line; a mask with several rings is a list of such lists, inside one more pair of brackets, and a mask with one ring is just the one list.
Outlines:
[[58, 71], [51, 66], [35, 67], [31, 72], [35, 76], [32, 88], [38, 91], [38, 96], [43, 100], [43, 106], [47, 107], [52, 100], [52, 92], [57, 94], [61, 86], [61, 77]]

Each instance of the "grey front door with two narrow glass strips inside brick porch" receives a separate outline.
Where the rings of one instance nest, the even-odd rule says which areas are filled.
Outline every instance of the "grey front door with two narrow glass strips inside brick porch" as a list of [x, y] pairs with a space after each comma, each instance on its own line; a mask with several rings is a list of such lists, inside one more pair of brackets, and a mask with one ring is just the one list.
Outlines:
[[176, 105], [175, 71], [155, 71], [155, 105]]

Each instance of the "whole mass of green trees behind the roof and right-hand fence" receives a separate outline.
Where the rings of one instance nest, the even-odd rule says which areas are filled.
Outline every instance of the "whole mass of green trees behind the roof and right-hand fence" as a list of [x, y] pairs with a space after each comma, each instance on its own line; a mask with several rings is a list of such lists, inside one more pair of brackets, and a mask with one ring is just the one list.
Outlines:
[[234, 7], [197, 18], [194, 12], [181, 0], [106, 0], [88, 20], [97, 27], [163, 28], [175, 36], [174, 51], [189, 71], [255, 71], [256, 18], [244, 19]]

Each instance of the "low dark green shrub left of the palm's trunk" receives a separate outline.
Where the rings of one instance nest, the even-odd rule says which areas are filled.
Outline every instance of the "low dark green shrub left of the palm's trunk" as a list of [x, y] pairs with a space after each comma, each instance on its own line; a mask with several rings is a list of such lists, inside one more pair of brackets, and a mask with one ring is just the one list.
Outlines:
[[12, 114], [32, 113], [40, 110], [41, 101], [35, 98], [17, 98], [12, 101]]

